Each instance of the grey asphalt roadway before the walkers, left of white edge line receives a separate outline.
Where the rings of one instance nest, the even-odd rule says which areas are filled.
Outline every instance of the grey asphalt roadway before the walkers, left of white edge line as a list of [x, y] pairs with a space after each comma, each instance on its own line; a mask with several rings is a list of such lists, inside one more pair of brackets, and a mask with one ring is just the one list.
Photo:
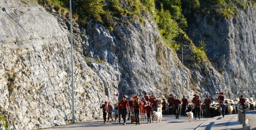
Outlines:
[[47, 128], [46, 130], [194, 130], [200, 124], [209, 120], [211, 118], [201, 118], [200, 120], [193, 119], [192, 122], [188, 122], [188, 116], [181, 116], [180, 119], [175, 119], [175, 116], [165, 115], [162, 121], [159, 123], [147, 124], [147, 121], [142, 121], [142, 125], [135, 125], [130, 121], [126, 121], [126, 125], [123, 125], [122, 119], [121, 123], [110, 121], [103, 123], [103, 120], [97, 120], [90, 122], [79, 122], [76, 124], [68, 124], [65, 126], [55, 126], [52, 128]]

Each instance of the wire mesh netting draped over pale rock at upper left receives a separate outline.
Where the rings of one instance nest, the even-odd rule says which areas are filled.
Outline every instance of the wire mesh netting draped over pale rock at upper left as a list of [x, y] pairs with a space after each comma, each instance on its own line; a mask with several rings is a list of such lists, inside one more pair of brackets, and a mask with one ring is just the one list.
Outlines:
[[66, 41], [56, 18], [34, 1], [0, 0], [0, 46], [35, 49]]

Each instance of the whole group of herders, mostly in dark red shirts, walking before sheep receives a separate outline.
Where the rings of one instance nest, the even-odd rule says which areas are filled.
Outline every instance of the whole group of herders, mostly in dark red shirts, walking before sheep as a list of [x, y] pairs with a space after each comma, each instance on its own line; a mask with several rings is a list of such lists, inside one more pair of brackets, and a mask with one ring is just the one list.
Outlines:
[[[219, 108], [222, 108], [222, 115], [224, 117], [224, 112], [225, 112], [225, 105], [224, 104], [224, 96], [223, 92], [219, 93], [220, 96], [218, 96], [218, 103], [219, 103]], [[168, 114], [175, 114], [176, 119], [179, 119], [179, 109], [182, 107], [182, 114], [185, 116], [186, 110], [188, 108], [188, 99], [186, 96], [182, 97], [182, 100], [180, 101], [177, 96], [173, 96], [172, 94], [169, 95], [167, 102], [165, 99], [160, 99], [162, 100], [162, 111], [166, 112], [168, 110]], [[192, 99], [192, 103], [194, 104], [195, 109], [195, 119], [197, 117], [200, 119], [200, 113], [202, 108], [202, 104], [205, 104], [205, 115], [210, 116], [210, 105], [212, 104], [212, 100], [208, 95], [206, 95], [206, 98], [204, 99], [204, 102], [202, 102], [197, 94], [193, 95], [194, 98]], [[241, 96], [242, 97], [242, 96]], [[127, 120], [130, 120], [130, 115], [132, 112], [135, 115], [135, 122], [136, 125], [140, 124], [140, 119], [139, 119], [139, 114], [140, 111], [141, 113], [146, 114], [148, 123], [151, 123], [151, 115], [152, 115], [152, 120], [153, 120], [153, 111], [157, 112], [158, 111], [158, 105], [160, 104], [160, 100], [157, 100], [153, 94], [150, 94], [150, 98], [147, 96], [146, 93], [144, 93], [144, 97], [139, 100], [138, 96], [133, 96], [130, 97], [130, 100], [127, 100], [128, 96], [123, 96], [122, 100], [118, 102], [117, 104], [114, 104], [114, 108], [112, 107], [110, 102], [104, 102], [100, 108], [103, 110], [103, 118], [104, 118], [104, 123], [106, 123], [106, 115], [108, 114], [108, 121], [112, 118], [112, 112], [114, 112], [115, 115], [115, 122], [121, 122], [121, 116], [122, 119], [124, 120], [124, 125], [126, 124], [126, 115], [128, 114]], [[133, 100], [134, 99], [134, 100]], [[245, 100], [244, 98], [240, 99], [240, 104], [243, 106], [245, 105]], [[168, 105], [168, 108], [166, 107]], [[133, 114], [132, 114], [133, 115]], [[142, 117], [143, 118], [143, 117]]]

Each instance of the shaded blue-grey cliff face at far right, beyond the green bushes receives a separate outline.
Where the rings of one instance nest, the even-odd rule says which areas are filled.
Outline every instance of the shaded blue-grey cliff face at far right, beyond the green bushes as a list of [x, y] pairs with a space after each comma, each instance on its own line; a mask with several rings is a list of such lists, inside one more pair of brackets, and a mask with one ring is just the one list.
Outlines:
[[[255, 95], [256, 9], [248, 3], [243, 11], [232, 19], [216, 18], [208, 22], [210, 15], [194, 14], [196, 23], [190, 26], [189, 36], [195, 43], [206, 39], [206, 54], [212, 65], [222, 73], [226, 92], [230, 98]], [[195, 35], [197, 34], [197, 35]]]

